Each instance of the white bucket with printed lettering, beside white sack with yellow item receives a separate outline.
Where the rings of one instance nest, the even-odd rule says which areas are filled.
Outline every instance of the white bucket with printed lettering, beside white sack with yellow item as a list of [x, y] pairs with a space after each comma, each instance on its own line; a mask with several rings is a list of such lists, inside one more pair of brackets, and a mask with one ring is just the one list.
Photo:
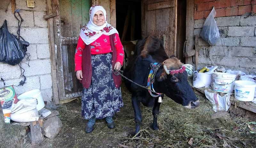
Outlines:
[[230, 93], [234, 88], [236, 74], [212, 73], [212, 90], [223, 93]]

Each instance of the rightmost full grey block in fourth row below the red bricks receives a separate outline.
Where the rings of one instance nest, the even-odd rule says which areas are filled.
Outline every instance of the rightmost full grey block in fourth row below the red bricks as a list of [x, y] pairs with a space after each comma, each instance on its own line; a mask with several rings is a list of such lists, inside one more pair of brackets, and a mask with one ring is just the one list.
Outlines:
[[234, 57], [251, 57], [255, 52], [253, 47], [235, 47], [229, 46], [228, 50], [231, 52], [231, 56]]

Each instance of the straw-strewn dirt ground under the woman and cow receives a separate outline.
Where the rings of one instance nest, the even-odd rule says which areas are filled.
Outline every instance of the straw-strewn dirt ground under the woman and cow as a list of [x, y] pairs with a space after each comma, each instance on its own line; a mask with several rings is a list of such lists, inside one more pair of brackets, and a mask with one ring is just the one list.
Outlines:
[[256, 122], [230, 114], [212, 118], [215, 112], [210, 102], [198, 95], [200, 106], [193, 110], [184, 108], [165, 97], [158, 116], [158, 131], [149, 128], [153, 121], [152, 108], [141, 105], [142, 126], [140, 136], [135, 137], [131, 94], [124, 86], [122, 86], [122, 95], [124, 107], [114, 117], [115, 129], [108, 129], [105, 120], [97, 120], [94, 131], [86, 134], [84, 131], [86, 121], [81, 117], [81, 100], [77, 99], [57, 109], [60, 112], [63, 128], [55, 139], [45, 138], [39, 147], [256, 147], [256, 125], [254, 125]]

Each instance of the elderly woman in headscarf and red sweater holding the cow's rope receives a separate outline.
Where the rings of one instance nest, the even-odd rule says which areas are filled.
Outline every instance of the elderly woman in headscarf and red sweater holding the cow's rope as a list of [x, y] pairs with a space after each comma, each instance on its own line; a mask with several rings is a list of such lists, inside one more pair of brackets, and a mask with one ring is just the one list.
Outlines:
[[121, 95], [120, 70], [124, 48], [116, 28], [107, 23], [106, 10], [100, 5], [90, 8], [90, 20], [81, 29], [75, 54], [76, 77], [83, 83], [82, 116], [89, 119], [86, 133], [94, 129], [96, 119], [105, 118], [109, 129], [112, 119], [124, 106]]

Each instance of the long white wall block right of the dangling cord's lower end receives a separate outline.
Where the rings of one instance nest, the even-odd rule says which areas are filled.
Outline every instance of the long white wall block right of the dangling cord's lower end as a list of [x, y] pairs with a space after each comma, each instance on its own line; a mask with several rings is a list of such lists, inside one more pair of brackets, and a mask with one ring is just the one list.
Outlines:
[[51, 62], [50, 59], [37, 59], [31, 60], [29, 66], [25, 63], [21, 64], [25, 69], [25, 76], [33, 76], [40, 74], [51, 74]]

